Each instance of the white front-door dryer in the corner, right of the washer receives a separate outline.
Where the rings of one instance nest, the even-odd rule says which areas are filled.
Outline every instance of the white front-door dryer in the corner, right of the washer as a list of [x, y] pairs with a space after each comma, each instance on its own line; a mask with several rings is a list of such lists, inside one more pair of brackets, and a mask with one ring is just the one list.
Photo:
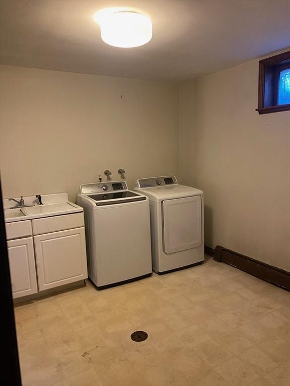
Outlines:
[[150, 201], [153, 270], [159, 274], [204, 261], [203, 192], [174, 176], [142, 178]]

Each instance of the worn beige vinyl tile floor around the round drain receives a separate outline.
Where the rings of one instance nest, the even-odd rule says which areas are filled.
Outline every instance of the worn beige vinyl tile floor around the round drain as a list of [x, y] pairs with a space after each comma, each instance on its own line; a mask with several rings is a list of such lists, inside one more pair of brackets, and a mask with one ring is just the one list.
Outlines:
[[290, 385], [290, 294], [208, 256], [103, 291], [87, 280], [15, 317], [24, 386]]

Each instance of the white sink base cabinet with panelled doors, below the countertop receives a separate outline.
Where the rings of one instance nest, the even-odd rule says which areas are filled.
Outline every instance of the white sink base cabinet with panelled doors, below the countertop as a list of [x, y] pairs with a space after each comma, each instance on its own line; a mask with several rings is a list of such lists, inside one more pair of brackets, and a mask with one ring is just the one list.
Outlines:
[[6, 223], [13, 298], [88, 277], [83, 212]]

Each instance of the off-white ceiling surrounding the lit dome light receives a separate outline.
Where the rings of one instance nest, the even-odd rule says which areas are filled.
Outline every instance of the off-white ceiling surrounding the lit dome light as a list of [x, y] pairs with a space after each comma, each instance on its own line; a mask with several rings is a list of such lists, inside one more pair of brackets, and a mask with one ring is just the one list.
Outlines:
[[[152, 40], [116, 48], [95, 12], [144, 12]], [[290, 45], [288, 0], [1, 0], [1, 63], [127, 78], [185, 81]]]

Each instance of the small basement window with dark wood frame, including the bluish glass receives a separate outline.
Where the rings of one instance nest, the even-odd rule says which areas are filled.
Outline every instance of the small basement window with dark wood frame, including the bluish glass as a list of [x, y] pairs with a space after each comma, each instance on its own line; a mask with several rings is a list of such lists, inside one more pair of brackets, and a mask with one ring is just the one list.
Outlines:
[[290, 51], [259, 62], [259, 114], [290, 110]]

